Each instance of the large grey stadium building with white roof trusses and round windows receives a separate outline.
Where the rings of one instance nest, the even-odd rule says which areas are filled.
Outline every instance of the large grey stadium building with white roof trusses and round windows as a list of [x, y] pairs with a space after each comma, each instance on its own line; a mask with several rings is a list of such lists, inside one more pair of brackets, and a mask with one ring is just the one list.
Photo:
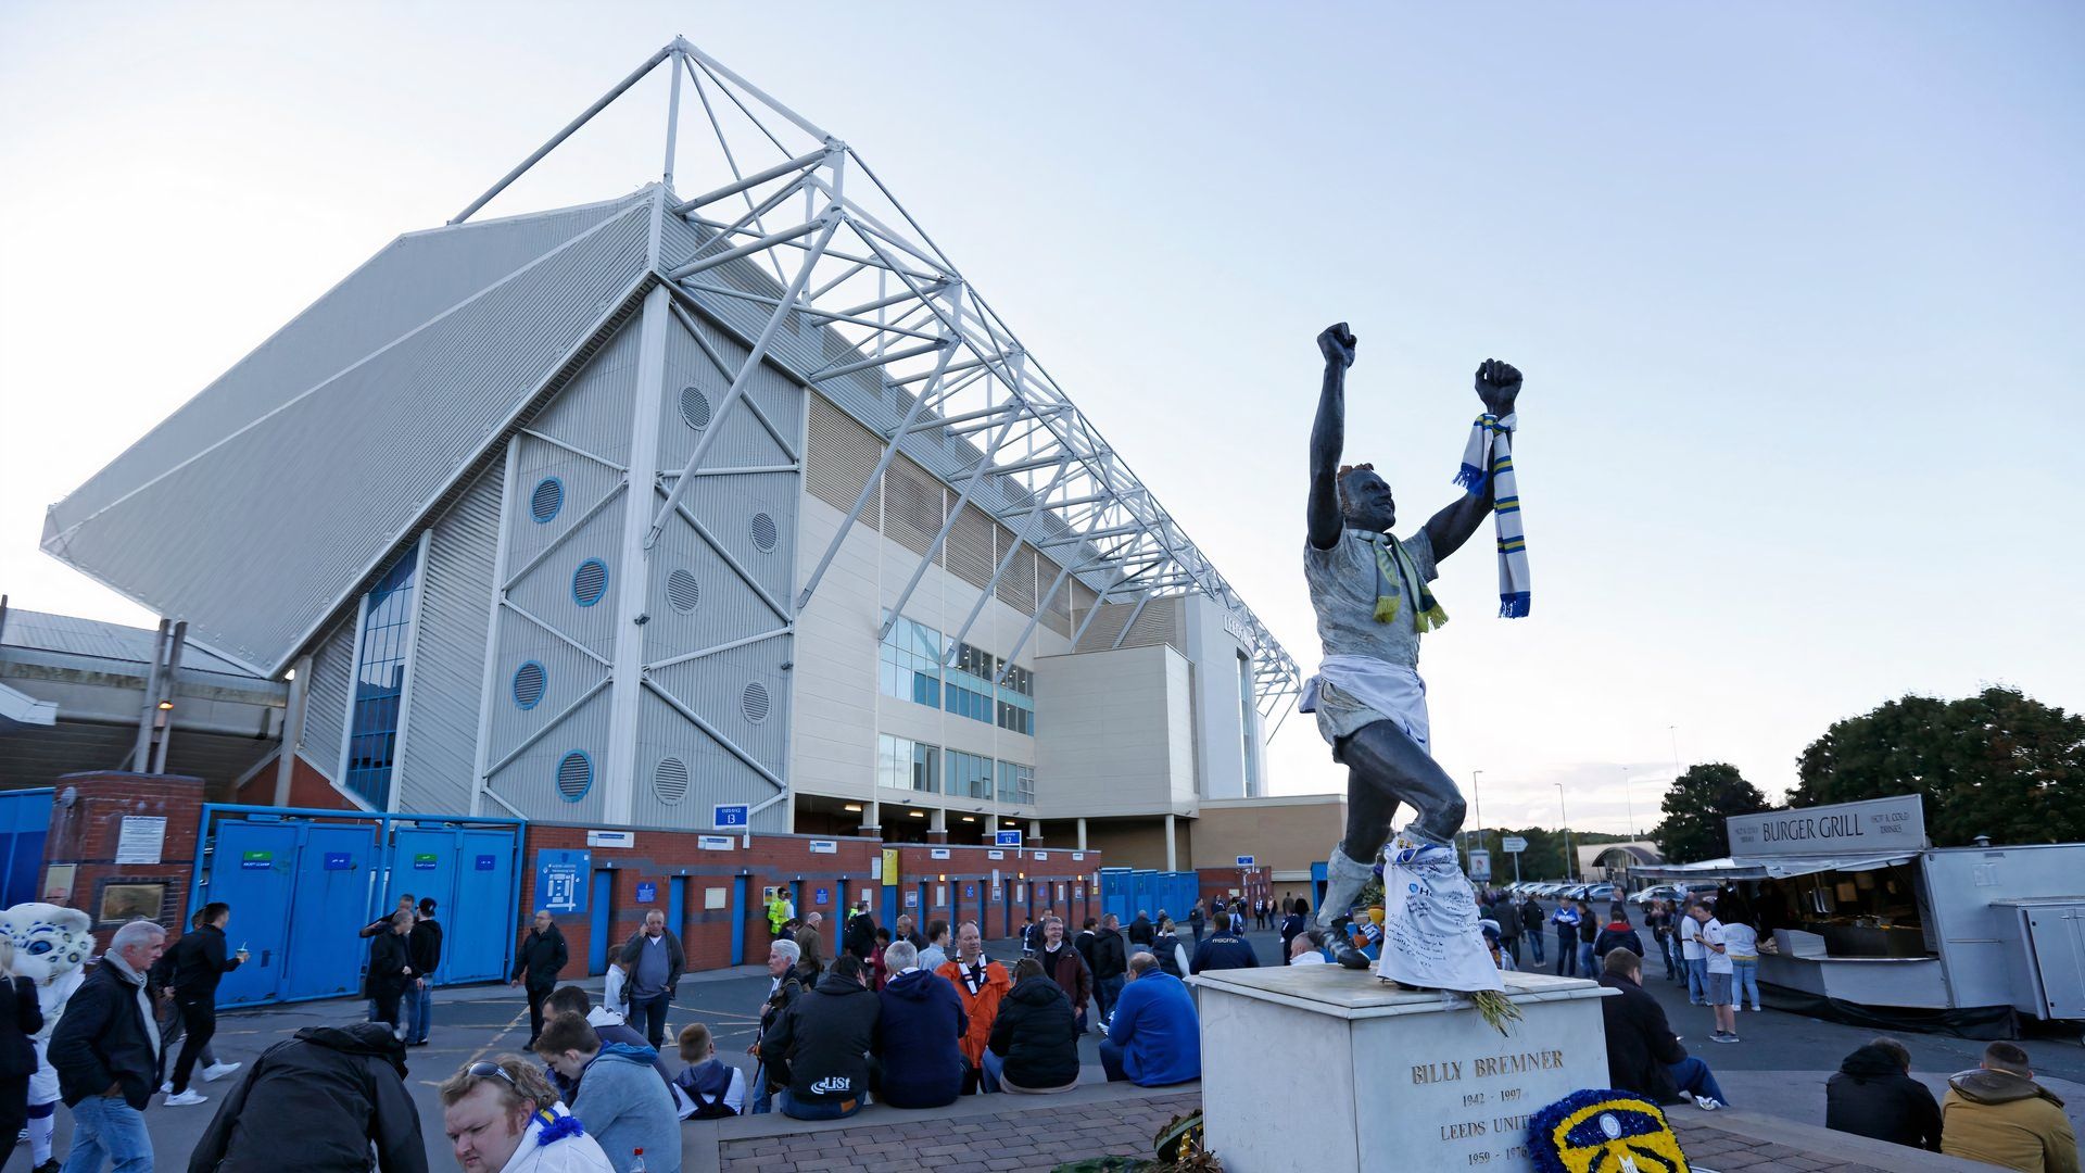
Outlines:
[[[661, 177], [477, 215], [640, 83]], [[861, 157], [684, 40], [52, 505], [42, 545], [288, 680], [284, 785], [256, 766], [242, 801], [705, 831], [746, 804], [757, 831], [1017, 827], [1172, 870], [1203, 801], [1268, 793], [1297, 693]]]

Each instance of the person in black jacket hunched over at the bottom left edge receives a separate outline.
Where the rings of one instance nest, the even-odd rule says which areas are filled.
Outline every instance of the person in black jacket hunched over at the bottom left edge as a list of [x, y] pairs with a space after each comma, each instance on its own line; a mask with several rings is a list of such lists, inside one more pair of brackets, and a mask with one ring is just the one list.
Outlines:
[[[304, 1027], [254, 1060], [196, 1142], [188, 1173], [309, 1169], [427, 1173], [404, 1046], [382, 1023]], [[292, 1156], [294, 1154], [294, 1156]]]

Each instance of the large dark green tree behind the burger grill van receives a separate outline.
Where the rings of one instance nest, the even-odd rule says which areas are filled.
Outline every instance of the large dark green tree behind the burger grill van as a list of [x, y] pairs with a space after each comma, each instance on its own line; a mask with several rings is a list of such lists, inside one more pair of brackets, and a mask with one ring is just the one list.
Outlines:
[[1941, 847], [2085, 839], [2085, 716], [2018, 689], [1883, 703], [1797, 760], [1797, 806], [1916, 793]]

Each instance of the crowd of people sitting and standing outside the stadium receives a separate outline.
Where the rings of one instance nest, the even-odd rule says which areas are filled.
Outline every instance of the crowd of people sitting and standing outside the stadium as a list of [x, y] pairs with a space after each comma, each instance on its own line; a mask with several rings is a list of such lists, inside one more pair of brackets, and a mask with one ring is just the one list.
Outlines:
[[[1562, 927], [1570, 929], [1572, 973], [1597, 973], [1614, 991], [1601, 1000], [1614, 1087], [1660, 1104], [1728, 1104], [1716, 1073], [1687, 1052], [1660, 1000], [1645, 991], [1643, 956], [1647, 943], [1655, 948], [1666, 977], [1712, 1008], [1714, 1042], [1737, 1042], [1731, 1014], [1756, 989], [1739, 964], [1756, 966], [1758, 950], [1741, 900], [1653, 902], [1643, 914], [1647, 939], [1620, 902], [1605, 918], [1583, 904], [1568, 908], [1574, 918], [1562, 916], [1566, 908], [1549, 914], [1528, 895], [1485, 893], [1482, 902], [1501, 968], [1516, 966], [1547, 927], [1560, 927], [1562, 968]], [[673, 1171], [688, 1119], [780, 1110], [828, 1121], [869, 1102], [938, 1108], [972, 1094], [1068, 1092], [1080, 1081], [1078, 1042], [1088, 1029], [1101, 1035], [1109, 1081], [1193, 1081], [1201, 1077], [1201, 1029], [1182, 977], [1259, 964], [1243, 937], [1249, 925], [1280, 931], [1286, 964], [1326, 964], [1332, 941], [1307, 914], [1299, 900], [1266, 910], [1197, 902], [1188, 923], [1203, 920], [1209, 931], [1188, 948], [1166, 910], [1138, 910], [1126, 929], [1115, 916], [1088, 918], [1074, 935], [1047, 910], [1022, 933], [1011, 968], [986, 956], [972, 920], [951, 933], [945, 920], [919, 931], [911, 916], [899, 916], [882, 929], [863, 904], [849, 912], [840, 952], [826, 962], [821, 918], [786, 916], [776, 925], [769, 989], [746, 1048], [751, 1079], [717, 1054], [703, 1023], [673, 1035], [678, 1064], [665, 1058], [665, 1010], [686, 952], [661, 912], [648, 912], [611, 952], [598, 1002], [580, 985], [559, 985], [569, 954], [550, 916], [538, 914], [513, 971], [530, 987], [532, 1058], [502, 1054], [450, 1075], [440, 1085], [444, 1131], [457, 1165], [471, 1173]], [[158, 925], [117, 929], [71, 994], [48, 1054], [33, 1044], [44, 1025], [35, 983], [10, 977], [13, 943], [0, 937], [0, 977], [15, 994], [13, 1012], [0, 1006], [0, 1127], [15, 1121], [35, 1135], [29, 1083], [46, 1060], [73, 1119], [63, 1167], [40, 1148], [35, 1173], [100, 1173], [106, 1165], [148, 1173], [150, 1096], [163, 1092], [175, 1106], [204, 1102], [194, 1081], [240, 1069], [211, 1054], [217, 983], [246, 960], [244, 948], [227, 948], [229, 918], [229, 906], [204, 906], [171, 950]], [[1349, 943], [1378, 948], [1380, 935], [1368, 939], [1370, 923], [1357, 918]], [[1597, 923], [1591, 939], [1589, 923]], [[306, 1027], [254, 1058], [196, 1144], [194, 1173], [277, 1167], [292, 1148], [300, 1167], [313, 1169], [427, 1169], [404, 1056], [425, 1039], [427, 975], [440, 964], [434, 902], [404, 897], [365, 935], [369, 1021]], [[413, 1006], [404, 1004], [409, 991], [417, 991]], [[1756, 994], [1749, 998], [1758, 1010]], [[1845, 1056], [1824, 1098], [1826, 1125], [1839, 1131], [2008, 1169], [2079, 1173], [2062, 1100], [2008, 1042], [1989, 1044], [1981, 1064], [1949, 1077], [1935, 1098], [1912, 1075], [1908, 1048], [1879, 1037]]]

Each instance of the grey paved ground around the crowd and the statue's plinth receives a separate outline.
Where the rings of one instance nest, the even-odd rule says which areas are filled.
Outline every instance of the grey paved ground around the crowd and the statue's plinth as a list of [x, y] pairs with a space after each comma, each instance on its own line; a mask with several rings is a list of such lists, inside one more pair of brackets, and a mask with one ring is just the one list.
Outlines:
[[[1272, 933], [1253, 933], [1255, 948], [1259, 950], [1264, 962], [1272, 964], [1280, 941]], [[1011, 956], [1007, 945], [992, 945], [995, 956]], [[1653, 973], [1658, 962], [1651, 962]], [[1758, 1158], [1758, 1146], [1766, 1144], [1758, 1133], [1768, 1131], [1760, 1125], [1745, 1125], [1743, 1121], [1758, 1119], [1779, 1119], [1795, 1125], [1822, 1125], [1824, 1108], [1824, 1079], [1839, 1067], [1839, 1060], [1851, 1052], [1856, 1046], [1868, 1042], [1870, 1031], [1856, 1027], [1839, 1027], [1833, 1023], [1820, 1023], [1814, 1019], [1804, 1019], [1795, 1014], [1783, 1014], [1768, 1010], [1764, 1014], [1739, 1014], [1739, 1031], [1743, 1035], [1741, 1044], [1716, 1046], [1708, 1044], [1710, 1012], [1706, 1008], [1687, 1006], [1685, 991], [1676, 985], [1653, 977], [1647, 987], [1664, 1002], [1666, 1012], [1678, 1033], [1687, 1037], [1687, 1046], [1701, 1054], [1718, 1073], [1741, 1112], [1726, 1115], [1701, 1115], [1691, 1108], [1674, 1110], [1674, 1125], [1683, 1129], [1689, 1140], [1689, 1152], [1693, 1150], [1695, 1135], [1703, 1140], [1703, 1146], [1718, 1146], [1716, 1150], [1737, 1150], [1745, 1148], [1728, 1138], [1737, 1135], [1749, 1144], [1745, 1152], [1751, 1154], [1749, 1163], [1724, 1160], [1712, 1163], [1703, 1160], [1712, 1169], [1801, 1169], [1801, 1165], [1762, 1165]], [[709, 1023], [711, 1031], [717, 1035], [717, 1046], [734, 1062], [751, 1071], [751, 1060], [744, 1056], [746, 1044], [753, 1042], [753, 1031], [757, 1027], [757, 1006], [765, 996], [767, 979], [763, 971], [742, 968], [728, 973], [705, 973], [694, 975], [682, 985], [682, 998], [673, 1012], [673, 1027], [678, 1029], [688, 1021]], [[267, 1046], [277, 1039], [288, 1037], [298, 1027], [309, 1025], [338, 1025], [359, 1019], [363, 1012], [361, 1002], [306, 1002], [296, 1006], [275, 1006], [267, 1010], [252, 1012], [227, 1012], [221, 1019], [217, 1050], [221, 1058], [227, 1060], [252, 1060]], [[457, 989], [440, 991], [434, 1014], [434, 1046], [413, 1048], [409, 1052], [411, 1077], [409, 1085], [421, 1110], [421, 1131], [427, 1138], [430, 1167], [432, 1169], [455, 1169], [448, 1156], [448, 1144], [442, 1135], [442, 1117], [436, 1102], [434, 1090], [440, 1081], [475, 1058], [500, 1052], [517, 1052], [528, 1042], [528, 1006], [523, 1004], [519, 991], [507, 987], [477, 987], [477, 989]], [[1914, 1073], [1939, 1087], [1945, 1075], [1977, 1064], [1977, 1054], [1983, 1044], [1952, 1039], [1939, 1035], [1899, 1035], [1914, 1056]], [[2022, 1044], [2035, 1060], [2035, 1069], [2043, 1075], [2052, 1087], [2068, 1100], [2068, 1110], [2072, 1121], [2085, 1131], [2085, 1048], [2075, 1039], [2056, 1037], [2035, 1037]], [[1086, 1064], [1086, 1077], [1099, 1081], [1099, 1052], [1097, 1037], [1088, 1035], [1080, 1046], [1080, 1058]], [[244, 1073], [240, 1073], [244, 1075]], [[238, 1079], [238, 1075], [234, 1075]], [[208, 1104], [192, 1108], [167, 1108], [154, 1100], [152, 1108], [146, 1112], [146, 1121], [152, 1129], [154, 1148], [161, 1158], [163, 1169], [179, 1169], [186, 1165], [196, 1138], [208, 1125], [211, 1115], [217, 1110], [221, 1092], [229, 1083], [206, 1083], [202, 1092], [213, 1096]], [[997, 1169], [1047, 1169], [1045, 1160], [1070, 1160], [1078, 1156], [1097, 1156], [1103, 1152], [1118, 1150], [1122, 1146], [1134, 1146], [1143, 1152], [1145, 1140], [1161, 1125], [1170, 1115], [1184, 1110], [1174, 1100], [1186, 1100], [1186, 1096], [1159, 1096], [1153, 1098], [1124, 1098], [1120, 1085], [1095, 1087], [1093, 1098], [1086, 1100], [1086, 1090], [1080, 1090], [1080, 1100], [1065, 1102], [1053, 1100], [1049, 1104], [1026, 1102], [1013, 1104], [999, 1098], [980, 1098], [959, 1104], [961, 1112], [949, 1112], [949, 1117], [961, 1119], [919, 1119], [907, 1123], [903, 1129], [907, 1135], [901, 1138], [903, 1144], [917, 1144], [917, 1138], [930, 1135], [940, 1140], [942, 1146], [957, 1146], [961, 1152], [936, 1154], [940, 1160], [915, 1160], [913, 1167], [965, 1167], [970, 1160], [978, 1160], [982, 1169], [995, 1169], [992, 1160], [999, 1160]], [[1163, 1102], [1161, 1102], [1163, 1100]], [[1055, 1119], [1051, 1112], [1070, 1112], [1068, 1119]], [[1045, 1119], [1049, 1117], [1049, 1119]], [[58, 1112], [58, 1152], [65, 1152], [67, 1133], [71, 1129], [67, 1112]], [[897, 1123], [901, 1117], [892, 1115], [882, 1119], [878, 1125], [861, 1125], [855, 1129], [832, 1129], [832, 1135], [819, 1138], [819, 1150], [828, 1146], [847, 1146], [849, 1152], [857, 1146], [853, 1133], [880, 1135], [874, 1144], [863, 1144], [861, 1163], [842, 1163], [840, 1167], [867, 1167], [876, 1165], [867, 1160], [869, 1156], [892, 1156], [890, 1152], [867, 1152], [882, 1144], [892, 1144], [888, 1123]], [[1076, 1125], [1074, 1125], [1076, 1121]], [[799, 1133], [803, 1125], [790, 1125], [784, 1121], [763, 1119], [761, 1138], [751, 1135], [755, 1121], [728, 1121], [723, 1131], [717, 1125], [690, 1125], [690, 1140], [705, 1138], [707, 1160], [744, 1160], [744, 1158], [774, 1158], [774, 1152], [753, 1152], [761, 1144], [774, 1144], [769, 1135], [788, 1135], [776, 1129], [794, 1127]], [[1703, 1131], [1706, 1129], [1706, 1131]], [[1061, 1144], [1028, 1144], [1026, 1138], [1047, 1135]], [[942, 1140], [947, 1138], [947, 1140]], [[746, 1144], [746, 1148], [738, 1148]], [[694, 1148], [690, 1146], [690, 1154]], [[1013, 1152], [1017, 1148], [1034, 1148], [1034, 1152]], [[832, 1160], [832, 1156], [824, 1156]], [[955, 1158], [955, 1160], [951, 1160]], [[1005, 1165], [1015, 1160], [1015, 1165]], [[1022, 1165], [1020, 1160], [1028, 1160]], [[1795, 1160], [1795, 1158], [1787, 1158]], [[1831, 1167], [1854, 1167], [1858, 1160], [1841, 1158]], [[690, 1173], [715, 1165], [703, 1165], [690, 1160]], [[723, 1165], [734, 1167], [734, 1165]], [[755, 1165], [744, 1165], [755, 1167]], [[784, 1165], [757, 1163], [761, 1169], [784, 1169]], [[1908, 1165], [1891, 1165], [1895, 1173], [1906, 1173]]]

